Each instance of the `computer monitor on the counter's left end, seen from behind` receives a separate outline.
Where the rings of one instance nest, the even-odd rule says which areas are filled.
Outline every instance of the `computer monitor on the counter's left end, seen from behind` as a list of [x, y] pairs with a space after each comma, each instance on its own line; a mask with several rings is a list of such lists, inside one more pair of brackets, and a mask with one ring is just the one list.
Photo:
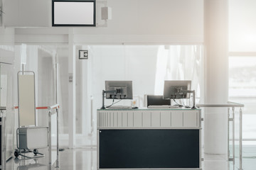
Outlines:
[[106, 98], [132, 99], [132, 81], [105, 81]]

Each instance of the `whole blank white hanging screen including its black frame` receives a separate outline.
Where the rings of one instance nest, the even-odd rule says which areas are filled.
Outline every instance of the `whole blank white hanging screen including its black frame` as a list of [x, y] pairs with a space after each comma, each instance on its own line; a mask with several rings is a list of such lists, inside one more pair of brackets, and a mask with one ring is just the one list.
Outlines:
[[52, 0], [52, 26], [95, 26], [95, 1]]

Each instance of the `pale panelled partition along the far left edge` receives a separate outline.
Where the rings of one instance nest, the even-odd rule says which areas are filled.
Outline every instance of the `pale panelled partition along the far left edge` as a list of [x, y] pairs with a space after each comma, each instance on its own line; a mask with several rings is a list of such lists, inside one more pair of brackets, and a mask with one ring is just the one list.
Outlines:
[[[1, 169], [14, 153], [14, 45], [0, 45]], [[4, 163], [4, 164], [3, 164]]]

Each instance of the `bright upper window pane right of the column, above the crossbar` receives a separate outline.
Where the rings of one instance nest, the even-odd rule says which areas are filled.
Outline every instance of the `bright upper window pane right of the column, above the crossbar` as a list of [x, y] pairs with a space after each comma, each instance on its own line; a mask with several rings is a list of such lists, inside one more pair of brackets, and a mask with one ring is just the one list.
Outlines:
[[256, 1], [253, 0], [229, 1], [230, 52], [255, 52], [255, 8]]

